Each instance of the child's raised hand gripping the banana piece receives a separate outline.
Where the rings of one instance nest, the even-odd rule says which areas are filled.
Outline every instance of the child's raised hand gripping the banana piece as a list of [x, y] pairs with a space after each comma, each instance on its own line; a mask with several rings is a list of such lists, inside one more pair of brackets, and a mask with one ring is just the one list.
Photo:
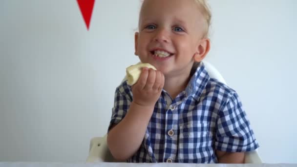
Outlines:
[[154, 106], [161, 95], [164, 82], [161, 71], [142, 68], [139, 80], [132, 86], [133, 102], [142, 106]]

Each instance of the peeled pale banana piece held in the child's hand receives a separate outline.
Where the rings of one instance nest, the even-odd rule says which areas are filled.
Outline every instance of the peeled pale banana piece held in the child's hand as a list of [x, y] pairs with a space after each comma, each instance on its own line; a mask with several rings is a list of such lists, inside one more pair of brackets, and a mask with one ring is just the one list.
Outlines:
[[154, 70], [157, 70], [153, 65], [151, 65], [149, 63], [138, 63], [138, 64], [135, 64], [135, 65], [128, 66], [126, 68], [127, 84], [128, 85], [133, 85], [138, 81], [139, 76], [141, 74], [141, 68], [142, 67], [148, 67], [148, 68], [152, 68]]

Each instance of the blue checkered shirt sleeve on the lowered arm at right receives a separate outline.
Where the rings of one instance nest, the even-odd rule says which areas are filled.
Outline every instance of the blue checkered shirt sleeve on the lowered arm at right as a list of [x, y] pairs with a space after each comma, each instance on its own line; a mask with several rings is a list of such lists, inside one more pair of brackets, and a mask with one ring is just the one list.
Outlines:
[[215, 139], [215, 149], [225, 152], [248, 152], [259, 147], [236, 93], [218, 113]]

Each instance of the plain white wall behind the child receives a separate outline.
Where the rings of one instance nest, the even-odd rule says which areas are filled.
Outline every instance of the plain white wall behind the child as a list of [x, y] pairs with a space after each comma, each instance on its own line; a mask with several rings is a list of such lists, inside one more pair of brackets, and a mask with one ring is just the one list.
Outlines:
[[[84, 162], [106, 133], [115, 87], [138, 62], [140, 0], [1, 0], [0, 161]], [[297, 1], [211, 0], [207, 60], [239, 93], [259, 154], [297, 163]]]

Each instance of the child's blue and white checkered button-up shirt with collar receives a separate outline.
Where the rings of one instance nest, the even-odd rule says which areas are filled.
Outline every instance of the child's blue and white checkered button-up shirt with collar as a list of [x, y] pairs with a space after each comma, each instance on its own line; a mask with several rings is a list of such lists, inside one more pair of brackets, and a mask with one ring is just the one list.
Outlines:
[[[258, 147], [237, 93], [210, 78], [203, 63], [195, 69], [175, 99], [162, 91], [143, 143], [128, 162], [217, 163], [215, 150], [247, 152]], [[116, 89], [110, 126], [125, 117], [132, 99], [125, 81]]]

